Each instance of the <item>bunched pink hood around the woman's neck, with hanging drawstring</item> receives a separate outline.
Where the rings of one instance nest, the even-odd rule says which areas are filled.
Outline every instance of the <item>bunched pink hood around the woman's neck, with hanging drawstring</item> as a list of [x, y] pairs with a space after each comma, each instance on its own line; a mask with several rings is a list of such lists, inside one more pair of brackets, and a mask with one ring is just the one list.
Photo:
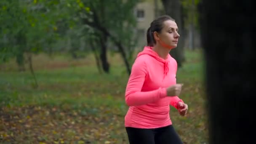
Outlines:
[[138, 55], [137, 55], [137, 58], [141, 55], [144, 55], [144, 54], [147, 54], [149, 56], [152, 56], [153, 58], [155, 58], [157, 61], [163, 63], [164, 67], [164, 75], [167, 75], [169, 69], [168, 69], [168, 65], [170, 63], [169, 61], [169, 55], [168, 55], [168, 58], [165, 60], [163, 58], [161, 58], [155, 51], [152, 50], [152, 47], [149, 47], [149, 46], [145, 46], [144, 47], [144, 50], [139, 52]]

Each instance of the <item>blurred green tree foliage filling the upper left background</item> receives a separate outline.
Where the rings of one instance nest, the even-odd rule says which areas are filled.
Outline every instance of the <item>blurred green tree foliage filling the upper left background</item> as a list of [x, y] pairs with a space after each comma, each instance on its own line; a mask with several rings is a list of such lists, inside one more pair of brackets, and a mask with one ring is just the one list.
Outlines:
[[[133, 33], [127, 29], [135, 27], [136, 3], [137, 0], [1, 0], [0, 62], [24, 57], [24, 53], [64, 51], [56, 44], [72, 37], [71, 43], [77, 45], [82, 36], [98, 37], [94, 33], [102, 32], [102, 27], [131, 47]], [[88, 30], [92, 32], [88, 34]]]

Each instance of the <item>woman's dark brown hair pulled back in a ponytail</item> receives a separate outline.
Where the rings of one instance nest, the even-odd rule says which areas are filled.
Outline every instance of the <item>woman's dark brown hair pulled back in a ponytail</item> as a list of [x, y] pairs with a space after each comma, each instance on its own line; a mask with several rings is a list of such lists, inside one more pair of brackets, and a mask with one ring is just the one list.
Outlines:
[[164, 27], [163, 22], [167, 20], [175, 21], [175, 19], [171, 18], [171, 16], [163, 15], [151, 22], [150, 27], [147, 29], [147, 45], [148, 46], [154, 46], [154, 44], [156, 44], [153, 33], [154, 32], [160, 33]]

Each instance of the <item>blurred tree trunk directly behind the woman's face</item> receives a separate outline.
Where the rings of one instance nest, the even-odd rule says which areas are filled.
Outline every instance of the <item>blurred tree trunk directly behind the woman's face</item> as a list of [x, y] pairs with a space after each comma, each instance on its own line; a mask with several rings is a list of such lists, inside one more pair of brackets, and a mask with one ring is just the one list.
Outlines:
[[178, 28], [179, 34], [181, 37], [179, 38], [179, 43], [177, 48], [173, 48], [170, 51], [171, 56], [176, 59], [178, 63], [178, 67], [182, 66], [182, 62], [185, 61], [184, 57], [184, 43], [185, 43], [185, 30], [184, 30], [184, 22], [182, 20], [182, 5], [180, 0], [162, 0], [162, 3], [165, 8], [165, 13], [175, 19]]

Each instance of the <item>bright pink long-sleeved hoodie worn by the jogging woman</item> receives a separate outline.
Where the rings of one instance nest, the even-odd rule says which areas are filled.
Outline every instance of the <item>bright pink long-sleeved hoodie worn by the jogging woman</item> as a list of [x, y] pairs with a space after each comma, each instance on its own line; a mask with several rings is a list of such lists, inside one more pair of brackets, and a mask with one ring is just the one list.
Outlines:
[[172, 124], [169, 105], [177, 109], [177, 102], [182, 100], [167, 96], [166, 88], [176, 84], [176, 71], [177, 62], [170, 55], [165, 60], [152, 47], [144, 47], [132, 66], [125, 91], [129, 106], [125, 127], [159, 128]]

